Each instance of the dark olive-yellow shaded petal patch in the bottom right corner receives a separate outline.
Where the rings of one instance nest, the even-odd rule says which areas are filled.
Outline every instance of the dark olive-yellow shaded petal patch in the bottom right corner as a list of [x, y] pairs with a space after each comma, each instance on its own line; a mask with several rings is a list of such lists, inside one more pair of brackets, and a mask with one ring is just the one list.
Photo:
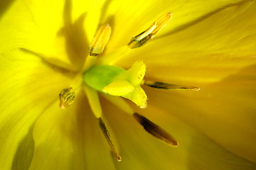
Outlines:
[[195, 133], [188, 145], [188, 169], [244, 170], [256, 169], [256, 164], [228, 152], [208, 137]]

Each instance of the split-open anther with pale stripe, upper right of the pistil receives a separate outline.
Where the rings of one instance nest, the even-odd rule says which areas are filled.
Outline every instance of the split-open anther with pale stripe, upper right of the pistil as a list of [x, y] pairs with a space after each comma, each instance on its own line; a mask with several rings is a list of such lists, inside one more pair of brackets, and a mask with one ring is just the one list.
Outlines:
[[140, 33], [136, 37], [132, 38], [129, 42], [128, 46], [130, 48], [141, 47], [145, 45], [146, 42], [154, 38], [154, 36], [163, 29], [167, 23], [171, 21], [171, 13], [166, 13], [164, 16], [161, 16], [158, 20], [156, 20], [152, 26], [147, 28], [144, 32]]

